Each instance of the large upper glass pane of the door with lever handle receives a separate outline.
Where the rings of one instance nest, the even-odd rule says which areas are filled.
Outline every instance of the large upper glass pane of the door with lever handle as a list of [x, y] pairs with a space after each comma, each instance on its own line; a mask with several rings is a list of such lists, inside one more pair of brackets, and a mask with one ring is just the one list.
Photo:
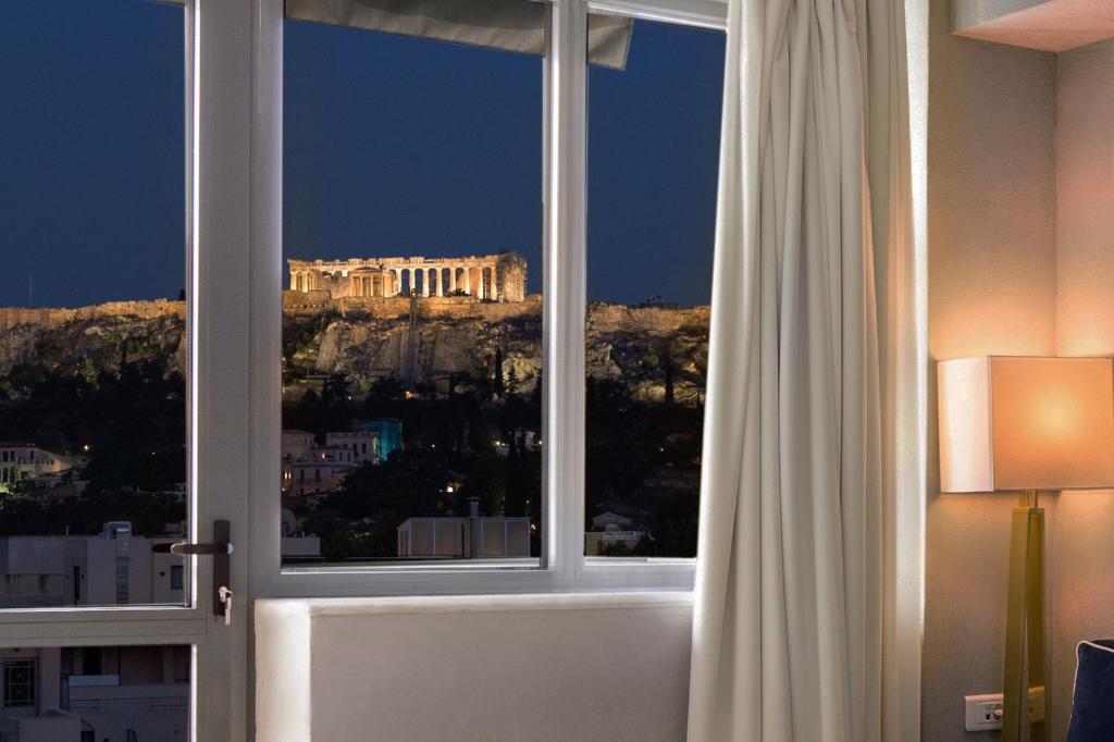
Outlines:
[[0, 18], [0, 608], [182, 603], [185, 11]]

